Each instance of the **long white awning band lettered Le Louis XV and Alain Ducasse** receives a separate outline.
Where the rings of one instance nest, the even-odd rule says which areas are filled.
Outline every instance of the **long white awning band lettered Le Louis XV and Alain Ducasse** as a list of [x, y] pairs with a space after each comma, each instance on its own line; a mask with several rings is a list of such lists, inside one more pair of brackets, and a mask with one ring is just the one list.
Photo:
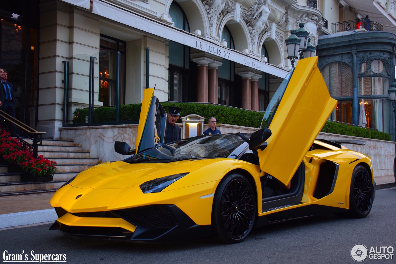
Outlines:
[[[230, 61], [235, 61], [247, 67], [275, 75], [276, 77], [285, 78], [288, 71], [276, 67], [272, 64], [267, 64], [257, 59], [253, 59], [247, 55], [240, 54], [234, 50], [224, 48], [215, 43], [209, 42], [202, 38], [194, 35], [186, 34], [177, 29], [168, 27], [161, 23], [156, 23], [150, 19], [140, 17], [126, 10], [122, 10], [118, 7], [114, 7], [110, 4], [101, 2], [99, 0], [93, 0], [92, 2], [92, 12], [107, 17], [111, 20], [123, 23], [125, 25], [134, 27], [141, 31], [145, 31], [168, 40], [173, 40], [180, 44], [208, 52], [210, 54], [216, 55], [221, 58], [228, 59]], [[150, 47], [149, 47], [150, 48]]]

